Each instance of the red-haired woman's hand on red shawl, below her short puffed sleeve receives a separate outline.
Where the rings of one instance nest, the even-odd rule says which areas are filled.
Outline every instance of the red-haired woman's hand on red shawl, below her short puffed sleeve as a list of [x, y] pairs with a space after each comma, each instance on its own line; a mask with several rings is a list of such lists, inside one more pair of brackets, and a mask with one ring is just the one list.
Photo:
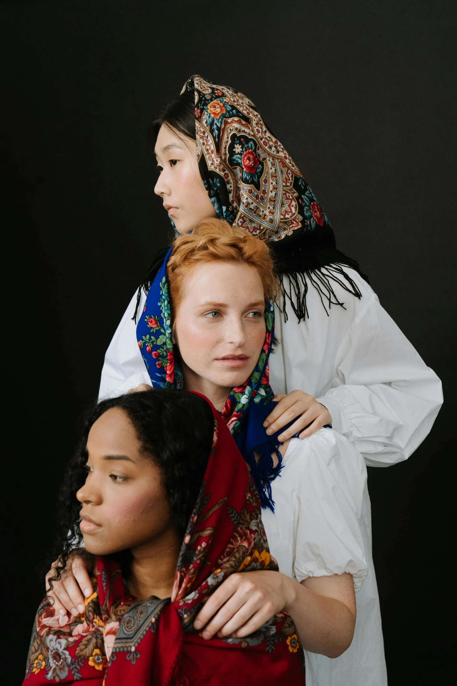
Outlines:
[[257, 631], [291, 602], [291, 582], [278, 571], [246, 571], [229, 576], [195, 617], [194, 628], [210, 639], [243, 638]]

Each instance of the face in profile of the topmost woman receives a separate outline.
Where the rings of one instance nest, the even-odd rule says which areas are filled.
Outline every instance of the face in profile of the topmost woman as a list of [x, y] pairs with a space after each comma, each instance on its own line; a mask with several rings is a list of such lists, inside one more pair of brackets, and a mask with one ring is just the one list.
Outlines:
[[154, 193], [160, 196], [179, 233], [187, 233], [208, 217], [217, 217], [203, 186], [197, 164], [197, 143], [160, 128], [154, 149], [160, 176]]

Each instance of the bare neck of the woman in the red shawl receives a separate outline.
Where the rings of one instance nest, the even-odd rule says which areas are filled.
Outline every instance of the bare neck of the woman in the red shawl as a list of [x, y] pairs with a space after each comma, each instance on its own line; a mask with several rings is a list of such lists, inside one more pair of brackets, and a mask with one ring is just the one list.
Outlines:
[[132, 595], [139, 600], [151, 595], [171, 597], [181, 543], [170, 528], [153, 541], [131, 548], [133, 559], [127, 584]]

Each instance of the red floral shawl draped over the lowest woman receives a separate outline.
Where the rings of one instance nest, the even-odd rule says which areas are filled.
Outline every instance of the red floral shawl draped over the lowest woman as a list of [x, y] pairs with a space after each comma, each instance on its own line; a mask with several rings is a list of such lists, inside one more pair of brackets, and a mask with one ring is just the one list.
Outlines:
[[287, 613], [245, 639], [205, 641], [193, 620], [210, 593], [236, 571], [277, 570], [245, 460], [214, 407], [214, 440], [177, 563], [172, 598], [136, 601], [121, 569], [99, 558], [94, 593], [69, 624], [45, 600], [24, 684], [85, 681], [111, 686], [209, 685], [234, 674], [250, 686], [304, 685], [303, 651]]

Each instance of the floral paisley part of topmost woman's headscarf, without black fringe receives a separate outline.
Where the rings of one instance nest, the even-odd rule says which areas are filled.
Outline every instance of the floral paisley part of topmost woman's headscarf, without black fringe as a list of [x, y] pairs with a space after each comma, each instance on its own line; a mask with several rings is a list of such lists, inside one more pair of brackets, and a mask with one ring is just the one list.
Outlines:
[[194, 75], [197, 156], [203, 183], [221, 219], [264, 241], [294, 233], [333, 232], [293, 159], [251, 100]]

